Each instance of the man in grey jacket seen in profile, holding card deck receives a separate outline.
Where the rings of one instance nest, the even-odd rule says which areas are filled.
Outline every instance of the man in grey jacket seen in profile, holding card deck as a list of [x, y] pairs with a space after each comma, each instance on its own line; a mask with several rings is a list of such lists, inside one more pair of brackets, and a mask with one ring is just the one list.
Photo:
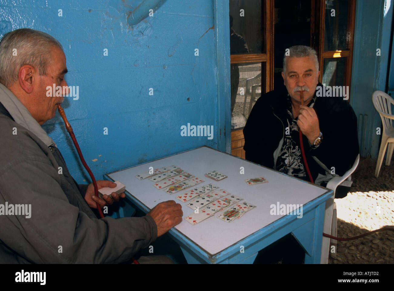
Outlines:
[[[119, 201], [78, 185], [55, 142], [41, 128], [55, 116], [66, 58], [50, 35], [22, 28], [0, 41], [0, 263], [123, 263], [182, 221], [181, 205], [159, 203], [146, 216], [98, 219], [91, 210]], [[59, 171], [61, 167], [62, 171]], [[115, 187], [97, 181], [98, 188]], [[28, 215], [6, 207], [30, 205]], [[140, 263], [172, 263], [147, 256]]]

